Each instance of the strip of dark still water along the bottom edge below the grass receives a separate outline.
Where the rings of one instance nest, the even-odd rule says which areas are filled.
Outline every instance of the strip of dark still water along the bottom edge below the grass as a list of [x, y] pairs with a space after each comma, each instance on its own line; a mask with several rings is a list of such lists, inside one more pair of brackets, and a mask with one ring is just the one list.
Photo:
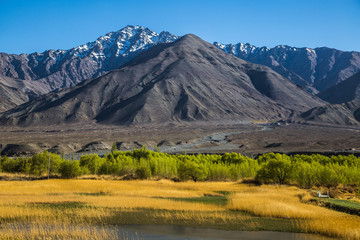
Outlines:
[[168, 225], [128, 225], [117, 229], [119, 237], [146, 240], [328, 240], [313, 234], [288, 232], [244, 232]]

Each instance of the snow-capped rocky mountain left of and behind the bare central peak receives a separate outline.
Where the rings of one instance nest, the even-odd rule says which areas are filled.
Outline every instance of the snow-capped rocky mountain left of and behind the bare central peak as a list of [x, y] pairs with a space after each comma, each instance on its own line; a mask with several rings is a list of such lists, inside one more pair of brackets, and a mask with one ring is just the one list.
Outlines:
[[[102, 76], [140, 52], [177, 38], [165, 31], [158, 34], [148, 28], [127, 26], [69, 50], [20, 55], [0, 53], [0, 76], [14, 79], [7, 81], [6, 85], [21, 90], [23, 99], [31, 99], [34, 95], [68, 88], [85, 79]], [[18, 88], [18, 80], [24, 81], [23, 88]], [[3, 81], [0, 80], [0, 83]], [[1, 108], [9, 109], [6, 106]]]

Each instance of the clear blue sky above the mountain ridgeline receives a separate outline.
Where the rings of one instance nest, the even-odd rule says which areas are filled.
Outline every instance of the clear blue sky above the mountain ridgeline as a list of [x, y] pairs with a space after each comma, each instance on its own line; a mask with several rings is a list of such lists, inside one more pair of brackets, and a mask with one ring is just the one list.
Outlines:
[[360, 0], [0, 0], [0, 52], [69, 49], [126, 25], [209, 42], [360, 51]]

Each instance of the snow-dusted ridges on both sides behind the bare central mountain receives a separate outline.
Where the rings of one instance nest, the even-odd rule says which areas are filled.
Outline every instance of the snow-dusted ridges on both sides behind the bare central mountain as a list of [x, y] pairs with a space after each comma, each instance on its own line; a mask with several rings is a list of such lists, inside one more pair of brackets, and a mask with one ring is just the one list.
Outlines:
[[[0, 53], [0, 76], [13, 78], [5, 85], [22, 92], [22, 101], [61, 88], [68, 88], [90, 78], [119, 68], [140, 52], [159, 43], [173, 42], [179, 37], [163, 31], [160, 34], [140, 26], [125, 28], [99, 37], [94, 42], [69, 49], [43, 53]], [[360, 53], [330, 48], [255, 47], [251, 44], [215, 46], [243, 60], [269, 66], [283, 77], [312, 94], [324, 91], [360, 71]], [[18, 88], [18, 80], [24, 87]], [[4, 82], [0, 80], [0, 83]], [[19, 101], [2, 104], [2, 110]]]

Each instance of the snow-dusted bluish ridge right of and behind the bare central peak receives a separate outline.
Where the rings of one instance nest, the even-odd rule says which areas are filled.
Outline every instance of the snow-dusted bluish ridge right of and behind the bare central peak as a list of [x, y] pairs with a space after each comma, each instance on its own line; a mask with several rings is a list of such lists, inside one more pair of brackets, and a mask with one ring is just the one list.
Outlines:
[[360, 53], [326, 47], [255, 47], [251, 44], [215, 46], [246, 61], [271, 67], [308, 92], [324, 91], [360, 71]]

